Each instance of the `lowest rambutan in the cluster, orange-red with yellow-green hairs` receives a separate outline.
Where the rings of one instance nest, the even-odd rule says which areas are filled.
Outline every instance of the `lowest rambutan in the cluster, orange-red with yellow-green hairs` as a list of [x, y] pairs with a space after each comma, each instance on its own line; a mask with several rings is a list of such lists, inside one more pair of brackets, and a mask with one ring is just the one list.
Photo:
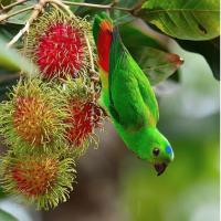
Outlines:
[[9, 152], [1, 158], [0, 183], [6, 192], [48, 210], [69, 198], [75, 179], [74, 166], [72, 158], [55, 154]]

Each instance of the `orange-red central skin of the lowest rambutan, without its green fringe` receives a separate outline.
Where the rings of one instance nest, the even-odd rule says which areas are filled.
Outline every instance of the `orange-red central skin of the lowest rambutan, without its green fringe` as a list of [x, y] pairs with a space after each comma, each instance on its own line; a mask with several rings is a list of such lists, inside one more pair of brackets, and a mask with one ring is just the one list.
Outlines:
[[27, 194], [38, 197], [53, 188], [57, 171], [57, 162], [54, 159], [28, 159], [28, 161], [15, 162], [10, 168], [12, 180], [17, 190]]

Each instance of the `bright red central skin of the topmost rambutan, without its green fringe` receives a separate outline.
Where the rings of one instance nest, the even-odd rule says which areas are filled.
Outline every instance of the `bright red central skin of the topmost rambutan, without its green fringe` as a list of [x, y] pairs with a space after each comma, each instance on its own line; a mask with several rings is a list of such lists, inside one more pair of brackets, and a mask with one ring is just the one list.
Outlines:
[[84, 65], [84, 48], [81, 30], [67, 23], [56, 23], [39, 38], [36, 63], [45, 78], [76, 76]]

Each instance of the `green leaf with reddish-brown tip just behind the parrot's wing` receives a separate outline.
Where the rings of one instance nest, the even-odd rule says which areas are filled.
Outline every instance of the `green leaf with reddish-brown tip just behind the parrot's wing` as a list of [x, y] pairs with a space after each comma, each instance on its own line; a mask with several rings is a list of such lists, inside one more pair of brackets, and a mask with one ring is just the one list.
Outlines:
[[129, 51], [147, 75], [151, 85], [168, 78], [183, 63], [182, 59], [177, 54], [149, 46], [130, 48]]

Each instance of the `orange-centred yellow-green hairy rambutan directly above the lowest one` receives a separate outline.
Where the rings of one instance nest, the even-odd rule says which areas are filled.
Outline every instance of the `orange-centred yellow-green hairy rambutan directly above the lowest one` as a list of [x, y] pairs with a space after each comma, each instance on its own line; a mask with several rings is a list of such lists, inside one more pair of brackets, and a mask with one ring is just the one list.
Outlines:
[[38, 78], [20, 80], [0, 104], [0, 134], [14, 150], [64, 145], [66, 99], [61, 87]]

